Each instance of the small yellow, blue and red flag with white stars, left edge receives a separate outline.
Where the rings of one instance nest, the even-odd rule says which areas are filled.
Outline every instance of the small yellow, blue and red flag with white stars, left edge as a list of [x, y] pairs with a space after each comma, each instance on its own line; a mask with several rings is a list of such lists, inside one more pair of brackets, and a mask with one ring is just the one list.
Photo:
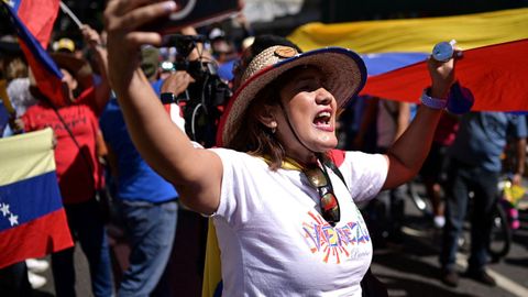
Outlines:
[[0, 268], [73, 245], [52, 138], [45, 129], [0, 139]]

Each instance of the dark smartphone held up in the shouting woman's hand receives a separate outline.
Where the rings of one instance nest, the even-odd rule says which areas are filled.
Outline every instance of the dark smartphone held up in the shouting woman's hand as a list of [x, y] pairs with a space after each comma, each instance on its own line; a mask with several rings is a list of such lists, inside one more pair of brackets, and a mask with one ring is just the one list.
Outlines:
[[147, 23], [143, 30], [161, 34], [176, 33], [184, 26], [204, 26], [227, 19], [242, 10], [241, 0], [174, 0], [177, 11], [168, 18]]

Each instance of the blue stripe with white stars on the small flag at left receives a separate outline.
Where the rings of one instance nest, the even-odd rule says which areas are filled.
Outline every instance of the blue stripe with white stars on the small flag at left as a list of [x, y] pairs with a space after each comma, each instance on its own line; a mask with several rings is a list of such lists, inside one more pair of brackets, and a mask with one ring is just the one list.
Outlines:
[[0, 187], [0, 232], [63, 207], [55, 172]]

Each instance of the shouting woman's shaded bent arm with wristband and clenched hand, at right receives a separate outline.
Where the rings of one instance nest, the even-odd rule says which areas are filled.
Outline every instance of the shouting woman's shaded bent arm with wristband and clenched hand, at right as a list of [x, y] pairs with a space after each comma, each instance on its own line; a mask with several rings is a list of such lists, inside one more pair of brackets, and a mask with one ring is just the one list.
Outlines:
[[[432, 81], [428, 94], [430, 97], [447, 100], [449, 89], [455, 80], [454, 62], [454, 58], [448, 62], [438, 62], [429, 57], [427, 64]], [[418, 173], [429, 153], [442, 112], [443, 109], [435, 109], [425, 105], [418, 108], [413, 122], [387, 152], [389, 165], [384, 188], [399, 186]]]

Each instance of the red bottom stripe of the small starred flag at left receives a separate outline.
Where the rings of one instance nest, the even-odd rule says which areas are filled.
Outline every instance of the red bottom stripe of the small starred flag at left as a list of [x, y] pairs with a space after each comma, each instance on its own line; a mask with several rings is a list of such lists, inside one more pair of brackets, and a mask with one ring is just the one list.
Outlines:
[[64, 208], [0, 233], [0, 268], [74, 245]]

